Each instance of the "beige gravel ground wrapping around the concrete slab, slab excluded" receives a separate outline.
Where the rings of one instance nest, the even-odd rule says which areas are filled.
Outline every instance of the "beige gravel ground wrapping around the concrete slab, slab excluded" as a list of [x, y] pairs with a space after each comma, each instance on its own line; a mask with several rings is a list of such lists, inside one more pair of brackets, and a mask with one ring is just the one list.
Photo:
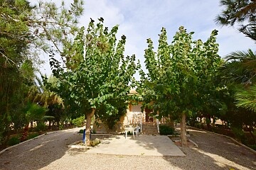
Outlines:
[[227, 137], [189, 130], [198, 148], [186, 157], [87, 154], [67, 146], [81, 139], [79, 129], [38, 137], [0, 154], [0, 169], [256, 169], [256, 154]]

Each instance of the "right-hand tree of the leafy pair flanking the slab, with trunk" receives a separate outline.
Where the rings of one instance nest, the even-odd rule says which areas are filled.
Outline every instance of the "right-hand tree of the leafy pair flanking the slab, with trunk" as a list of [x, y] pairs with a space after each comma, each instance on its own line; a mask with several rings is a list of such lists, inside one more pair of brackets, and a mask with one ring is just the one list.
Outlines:
[[192, 40], [193, 33], [186, 33], [181, 26], [171, 44], [167, 42], [166, 29], [159, 35], [159, 46], [154, 52], [153, 42], [147, 39], [145, 50], [146, 69], [142, 70], [138, 92], [144, 101], [153, 101], [154, 113], [181, 119], [181, 143], [187, 145], [186, 116], [200, 108], [202, 88], [214, 77], [220, 66], [218, 44], [215, 42], [217, 31], [213, 30], [206, 42]]

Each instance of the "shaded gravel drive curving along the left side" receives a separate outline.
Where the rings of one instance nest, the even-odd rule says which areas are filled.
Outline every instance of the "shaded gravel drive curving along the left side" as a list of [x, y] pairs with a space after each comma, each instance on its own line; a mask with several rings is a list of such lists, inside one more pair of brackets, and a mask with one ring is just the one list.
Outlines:
[[[57, 131], [24, 142], [0, 154], [0, 169], [41, 169], [63, 157], [70, 143], [81, 140], [80, 129]], [[65, 135], [64, 135], [65, 134]]]

